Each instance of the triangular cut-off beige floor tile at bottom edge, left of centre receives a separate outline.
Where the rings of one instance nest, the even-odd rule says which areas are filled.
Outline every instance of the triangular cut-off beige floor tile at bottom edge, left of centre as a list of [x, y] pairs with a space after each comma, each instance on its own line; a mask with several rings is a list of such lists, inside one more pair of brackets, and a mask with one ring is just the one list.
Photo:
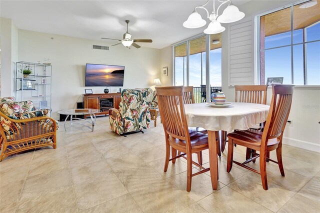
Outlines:
[[135, 203], [130, 194], [125, 194], [123, 196], [117, 197], [110, 201], [104, 202], [102, 204], [96, 205], [92, 208], [84, 210], [83, 212], [110, 212], [110, 213], [126, 213], [126, 212], [142, 212], [139, 206]]

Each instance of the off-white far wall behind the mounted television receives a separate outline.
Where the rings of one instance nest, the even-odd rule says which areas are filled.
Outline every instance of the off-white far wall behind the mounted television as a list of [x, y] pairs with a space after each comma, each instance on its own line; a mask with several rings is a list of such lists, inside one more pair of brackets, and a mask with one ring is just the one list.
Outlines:
[[[53, 37], [53, 39], [51, 39]], [[109, 50], [92, 49], [92, 44], [107, 45]], [[105, 87], [84, 87], [85, 63], [124, 65], [122, 88], [149, 87], [159, 75], [160, 50], [141, 47], [125, 48], [123, 45], [18, 30], [19, 61], [44, 62], [49, 57], [52, 65], [52, 111], [73, 108], [84, 88], [93, 93], [103, 93]], [[116, 92], [118, 87], [111, 87]], [[81, 98], [79, 98], [81, 100]]]

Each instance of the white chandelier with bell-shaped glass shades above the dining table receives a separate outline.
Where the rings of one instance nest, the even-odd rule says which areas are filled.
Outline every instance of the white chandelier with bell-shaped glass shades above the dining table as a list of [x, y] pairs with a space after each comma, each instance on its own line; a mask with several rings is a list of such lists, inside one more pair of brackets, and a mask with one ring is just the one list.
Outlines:
[[[183, 26], [186, 28], [198, 28], [204, 26], [206, 21], [202, 19], [201, 15], [196, 11], [196, 8], [202, 8], [207, 13], [207, 18], [210, 19], [210, 23], [206, 29], [203, 30], [206, 34], [216, 34], [219, 32], [223, 32], [225, 27], [221, 26], [220, 23], [231, 23], [238, 21], [244, 17], [244, 13], [240, 12], [239, 9], [234, 6], [231, 0], [218, 0], [221, 4], [215, 11], [215, 0], [213, 0], [213, 11], [209, 14], [208, 10], [204, 7], [209, 0], [206, 1], [205, 4], [194, 7], [193, 12], [189, 15], [188, 19], [183, 22]], [[218, 11], [221, 5], [228, 3], [227, 7], [223, 10], [222, 14], [219, 15]]]

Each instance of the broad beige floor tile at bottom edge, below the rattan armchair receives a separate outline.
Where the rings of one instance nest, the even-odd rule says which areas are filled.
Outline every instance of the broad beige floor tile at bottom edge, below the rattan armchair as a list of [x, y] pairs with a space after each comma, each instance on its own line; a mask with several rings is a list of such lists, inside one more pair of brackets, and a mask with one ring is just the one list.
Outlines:
[[77, 212], [73, 188], [36, 193], [20, 201], [17, 212]]

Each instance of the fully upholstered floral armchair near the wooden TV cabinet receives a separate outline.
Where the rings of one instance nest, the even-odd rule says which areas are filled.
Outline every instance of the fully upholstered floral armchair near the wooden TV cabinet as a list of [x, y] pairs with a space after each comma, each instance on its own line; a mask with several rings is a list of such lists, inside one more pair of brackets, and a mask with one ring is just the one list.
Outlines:
[[151, 88], [123, 89], [119, 109], [109, 109], [110, 129], [117, 134], [149, 128], [149, 106], [154, 93]]

